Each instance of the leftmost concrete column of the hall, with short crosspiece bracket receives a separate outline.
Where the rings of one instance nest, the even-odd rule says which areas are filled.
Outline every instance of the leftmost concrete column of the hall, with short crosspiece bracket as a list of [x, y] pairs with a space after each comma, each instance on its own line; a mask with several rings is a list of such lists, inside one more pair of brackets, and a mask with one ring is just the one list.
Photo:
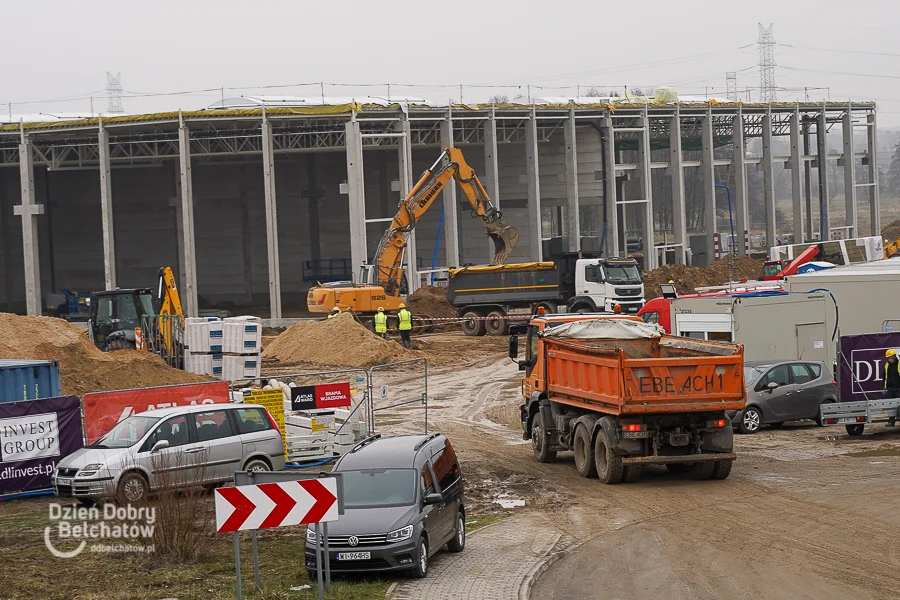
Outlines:
[[13, 206], [13, 214], [22, 217], [22, 257], [25, 265], [25, 309], [29, 315], [40, 316], [41, 264], [38, 252], [38, 215], [44, 214], [44, 205], [34, 201], [34, 163], [31, 140], [22, 134], [19, 144], [19, 179], [22, 188], [22, 204]]

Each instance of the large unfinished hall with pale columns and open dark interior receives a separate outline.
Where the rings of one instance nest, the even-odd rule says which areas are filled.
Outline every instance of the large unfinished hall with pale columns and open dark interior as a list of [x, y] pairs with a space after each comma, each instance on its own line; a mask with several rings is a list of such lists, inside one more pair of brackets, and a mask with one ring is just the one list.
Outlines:
[[[587, 249], [590, 237], [591, 249], [624, 254], [625, 232], [638, 231], [646, 268], [684, 263], [691, 255], [685, 172], [703, 174], [705, 222], [715, 224], [715, 168], [722, 165], [734, 173], [739, 234], [751, 229], [749, 206], [759, 202], [766, 245], [775, 245], [773, 173], [781, 163], [791, 174], [793, 230], [811, 238], [816, 227], [804, 170], [818, 170], [817, 195], [828, 198], [824, 169], [838, 161], [846, 222], [833, 227], [828, 203], [821, 203], [823, 231], [869, 235], [858, 231], [857, 219], [858, 202], [867, 201], [877, 235], [875, 123], [872, 103], [711, 101], [346, 102], [0, 125], [0, 167], [8, 167], [0, 168], [0, 308], [40, 314], [42, 290], [147, 286], [161, 264], [171, 263], [188, 315], [202, 308], [201, 297], [243, 306], [267, 299], [271, 317], [279, 318], [283, 299], [302, 302], [322, 265], [343, 260], [352, 271], [369, 257], [398, 198], [451, 145], [466, 153], [506, 223], [519, 228], [512, 260], [543, 258], [542, 207], [551, 206], [564, 223], [561, 250]], [[866, 132], [865, 148], [854, 147], [856, 128]], [[841, 132], [842, 153], [829, 153], [826, 135], [817, 135], [829, 130]], [[781, 136], [790, 153], [776, 156], [773, 139]], [[747, 153], [753, 138], [761, 140], [759, 156]], [[714, 149], [728, 145], [742, 150], [717, 157]], [[666, 149], [668, 159], [658, 160]], [[750, 165], [762, 170], [761, 198], [748, 197]], [[857, 180], [858, 169], [867, 181]], [[672, 239], [654, 240], [657, 170], [671, 181]], [[413, 270], [486, 261], [483, 228], [468, 218], [452, 186], [442, 206], [413, 234], [407, 256]], [[707, 249], [715, 230], [706, 227]], [[416, 287], [420, 278], [410, 281]]]

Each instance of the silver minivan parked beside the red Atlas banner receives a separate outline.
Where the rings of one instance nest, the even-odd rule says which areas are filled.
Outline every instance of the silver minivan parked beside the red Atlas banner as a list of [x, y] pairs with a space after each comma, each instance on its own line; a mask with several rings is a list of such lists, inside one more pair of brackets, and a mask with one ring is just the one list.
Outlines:
[[160, 408], [120, 421], [93, 444], [59, 462], [57, 496], [85, 504], [115, 498], [139, 503], [151, 491], [232, 481], [235, 471], [284, 469], [274, 419], [254, 404]]

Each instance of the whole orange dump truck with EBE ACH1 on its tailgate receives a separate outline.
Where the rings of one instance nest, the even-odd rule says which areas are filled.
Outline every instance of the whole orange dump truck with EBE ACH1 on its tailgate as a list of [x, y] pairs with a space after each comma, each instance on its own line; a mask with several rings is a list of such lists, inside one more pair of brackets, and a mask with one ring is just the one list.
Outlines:
[[[517, 360], [519, 335], [525, 360]], [[637, 481], [654, 464], [695, 479], [731, 473], [725, 412], [744, 408], [742, 346], [598, 315], [538, 315], [509, 341], [525, 371], [524, 439], [539, 462], [572, 450], [578, 473], [603, 483]]]

